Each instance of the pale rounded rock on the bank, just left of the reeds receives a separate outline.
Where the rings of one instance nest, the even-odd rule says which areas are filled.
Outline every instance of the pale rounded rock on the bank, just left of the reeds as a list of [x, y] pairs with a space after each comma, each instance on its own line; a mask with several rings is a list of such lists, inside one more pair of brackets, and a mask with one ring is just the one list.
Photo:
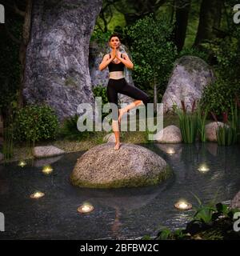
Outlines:
[[160, 143], [180, 143], [182, 142], [181, 130], [177, 126], [166, 126], [154, 135], [154, 139]]

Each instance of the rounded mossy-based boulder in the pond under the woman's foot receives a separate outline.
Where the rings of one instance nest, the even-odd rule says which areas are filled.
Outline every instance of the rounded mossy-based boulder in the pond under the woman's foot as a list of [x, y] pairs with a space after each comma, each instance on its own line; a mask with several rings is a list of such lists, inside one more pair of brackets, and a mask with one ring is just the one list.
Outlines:
[[116, 188], [156, 185], [170, 177], [171, 170], [158, 154], [143, 146], [106, 143], [78, 158], [70, 181], [74, 186]]

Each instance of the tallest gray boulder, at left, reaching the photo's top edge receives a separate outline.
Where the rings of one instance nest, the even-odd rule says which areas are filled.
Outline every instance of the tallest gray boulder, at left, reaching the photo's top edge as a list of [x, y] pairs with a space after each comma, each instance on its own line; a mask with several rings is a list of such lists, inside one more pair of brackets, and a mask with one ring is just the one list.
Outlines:
[[94, 104], [89, 73], [90, 35], [102, 0], [34, 1], [26, 50], [27, 103], [46, 102], [58, 118], [77, 113], [78, 104]]

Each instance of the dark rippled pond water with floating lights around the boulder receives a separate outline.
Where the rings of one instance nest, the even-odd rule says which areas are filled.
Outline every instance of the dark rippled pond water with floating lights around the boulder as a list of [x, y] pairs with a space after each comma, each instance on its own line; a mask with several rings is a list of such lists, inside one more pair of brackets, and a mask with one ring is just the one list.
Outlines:
[[[228, 204], [240, 188], [239, 146], [206, 144], [146, 144], [168, 162], [173, 178], [159, 186], [94, 190], [74, 187], [70, 173], [84, 152], [41, 159], [18, 166], [0, 166], [0, 212], [5, 232], [0, 239], [137, 239], [155, 236], [162, 227], [186, 226], [193, 210], [179, 211], [174, 203], [184, 198], [198, 206], [212, 200]], [[171, 151], [170, 151], [171, 150]], [[174, 154], [169, 154], [174, 153]], [[50, 163], [53, 172], [42, 173]], [[208, 171], [198, 170], [204, 164]], [[30, 198], [40, 190], [45, 196]], [[90, 202], [94, 211], [78, 213]]]

